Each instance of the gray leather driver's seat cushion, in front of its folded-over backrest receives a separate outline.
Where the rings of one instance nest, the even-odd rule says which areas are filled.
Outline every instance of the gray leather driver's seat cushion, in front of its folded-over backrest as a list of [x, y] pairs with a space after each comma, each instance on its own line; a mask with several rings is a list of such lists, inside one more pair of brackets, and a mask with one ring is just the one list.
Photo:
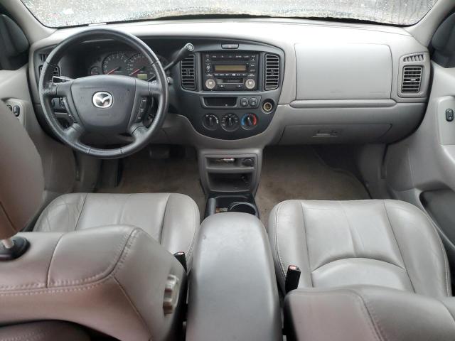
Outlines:
[[144, 229], [172, 254], [191, 262], [200, 218], [191, 197], [171, 193], [73, 193], [57, 197], [36, 222], [36, 232], [70, 232], [105, 225]]

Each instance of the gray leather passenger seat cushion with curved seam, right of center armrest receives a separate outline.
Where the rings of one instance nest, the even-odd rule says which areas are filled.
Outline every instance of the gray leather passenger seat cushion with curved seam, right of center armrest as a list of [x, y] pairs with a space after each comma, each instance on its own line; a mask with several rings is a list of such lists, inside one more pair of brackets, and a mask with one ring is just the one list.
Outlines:
[[287, 267], [296, 265], [299, 288], [365, 284], [451, 295], [437, 230], [406, 202], [287, 200], [271, 212], [269, 239], [283, 290]]

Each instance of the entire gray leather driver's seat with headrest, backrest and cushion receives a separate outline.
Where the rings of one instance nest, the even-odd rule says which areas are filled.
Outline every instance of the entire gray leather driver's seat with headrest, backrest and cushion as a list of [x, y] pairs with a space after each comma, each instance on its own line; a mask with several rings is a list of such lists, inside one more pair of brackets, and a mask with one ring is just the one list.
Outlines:
[[[18, 233], [41, 210], [43, 167], [2, 106], [0, 160], [0, 340], [88, 340], [77, 325], [117, 340], [181, 339], [186, 271], [171, 253], [191, 261], [199, 227], [191, 198], [63, 195], [34, 232]], [[43, 320], [75, 325], [34, 323]]]

